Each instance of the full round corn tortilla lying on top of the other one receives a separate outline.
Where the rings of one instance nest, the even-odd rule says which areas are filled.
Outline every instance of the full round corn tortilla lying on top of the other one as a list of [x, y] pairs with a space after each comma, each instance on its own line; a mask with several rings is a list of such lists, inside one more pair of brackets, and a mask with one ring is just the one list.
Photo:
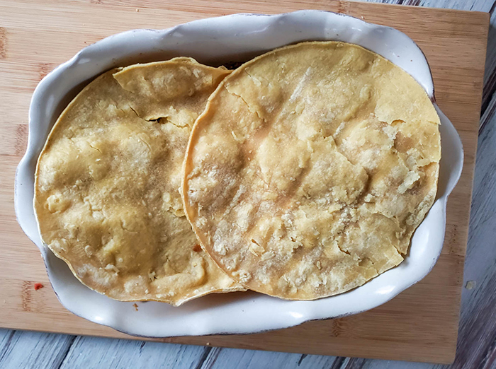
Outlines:
[[313, 300], [402, 262], [432, 206], [439, 117], [421, 86], [343, 42], [240, 66], [210, 96], [184, 164], [205, 250], [261, 293]]

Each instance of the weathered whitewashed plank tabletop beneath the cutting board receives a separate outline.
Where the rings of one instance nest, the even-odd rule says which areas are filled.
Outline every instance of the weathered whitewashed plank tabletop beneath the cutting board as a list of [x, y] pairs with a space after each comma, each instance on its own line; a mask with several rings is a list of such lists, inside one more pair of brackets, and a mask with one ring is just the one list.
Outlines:
[[[475, 281], [475, 287], [463, 289], [456, 361], [446, 368], [496, 368], [496, 0], [375, 2], [492, 14], [464, 274], [464, 286], [468, 281]], [[444, 366], [0, 329], [0, 368], [410, 369]]]

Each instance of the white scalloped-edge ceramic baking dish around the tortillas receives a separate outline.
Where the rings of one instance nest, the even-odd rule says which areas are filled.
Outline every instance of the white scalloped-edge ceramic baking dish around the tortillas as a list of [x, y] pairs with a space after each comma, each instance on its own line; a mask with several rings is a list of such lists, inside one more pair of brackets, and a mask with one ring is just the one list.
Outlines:
[[434, 206], [417, 228], [400, 266], [341, 295], [315, 301], [286, 301], [258, 293], [208, 295], [182, 305], [111, 300], [82, 285], [40, 240], [33, 211], [36, 160], [50, 128], [67, 103], [90, 81], [114, 66], [188, 56], [210, 65], [244, 61], [267, 50], [304, 40], [352, 42], [381, 54], [410, 73], [434, 101], [434, 86], [422, 51], [404, 33], [325, 11], [276, 16], [235, 14], [168, 30], [130, 30], [82, 49], [40, 82], [29, 110], [28, 149], [16, 172], [18, 222], [43, 254], [62, 305], [74, 314], [140, 336], [239, 334], [291, 327], [308, 320], [356, 314], [381, 305], [426, 276], [444, 242], [446, 201], [461, 175], [463, 148], [449, 119], [441, 117], [442, 158]]

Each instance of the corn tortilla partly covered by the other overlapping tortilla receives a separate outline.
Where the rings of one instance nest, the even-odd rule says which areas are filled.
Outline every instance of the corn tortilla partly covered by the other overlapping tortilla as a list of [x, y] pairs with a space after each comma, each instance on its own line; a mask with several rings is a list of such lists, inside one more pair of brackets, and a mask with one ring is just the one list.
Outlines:
[[62, 112], [38, 160], [43, 242], [89, 288], [180, 305], [239, 291], [184, 216], [188, 136], [229, 71], [176, 58], [108, 71]]

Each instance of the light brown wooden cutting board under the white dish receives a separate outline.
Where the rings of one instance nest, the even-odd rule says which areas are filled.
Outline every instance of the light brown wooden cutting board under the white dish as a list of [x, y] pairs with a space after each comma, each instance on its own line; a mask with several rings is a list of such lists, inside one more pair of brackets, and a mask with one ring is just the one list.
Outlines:
[[[173, 4], [174, 3], [174, 4]], [[455, 356], [463, 260], [477, 146], [489, 14], [329, 0], [0, 0], [0, 327], [133, 338], [64, 309], [37, 247], [13, 211], [13, 178], [26, 149], [28, 105], [43, 76], [82, 47], [132, 28], [229, 13], [316, 8], [402, 30], [432, 67], [436, 99], [458, 129], [465, 164], [448, 204], [439, 262], [423, 281], [374, 310], [244, 336], [162, 339], [270, 351], [450, 363]], [[43, 283], [38, 291], [34, 283]]]

